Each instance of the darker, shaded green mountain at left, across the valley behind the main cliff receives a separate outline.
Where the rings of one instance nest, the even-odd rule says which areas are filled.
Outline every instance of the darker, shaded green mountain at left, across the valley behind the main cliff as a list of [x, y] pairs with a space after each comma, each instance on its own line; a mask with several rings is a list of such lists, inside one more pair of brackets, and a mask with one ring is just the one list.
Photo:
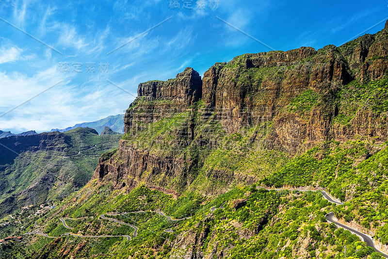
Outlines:
[[0, 214], [58, 201], [80, 189], [98, 157], [117, 147], [120, 137], [78, 128], [0, 139]]

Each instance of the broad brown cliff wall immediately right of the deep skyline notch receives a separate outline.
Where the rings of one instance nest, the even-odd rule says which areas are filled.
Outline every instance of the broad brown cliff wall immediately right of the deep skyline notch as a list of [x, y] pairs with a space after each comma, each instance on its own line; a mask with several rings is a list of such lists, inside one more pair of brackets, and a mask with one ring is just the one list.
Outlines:
[[330, 111], [320, 115], [315, 111], [310, 118], [302, 118], [284, 108], [306, 90], [329, 95], [347, 84], [352, 76], [346, 67], [346, 61], [332, 45], [318, 51], [301, 48], [245, 54], [205, 72], [203, 100], [218, 113], [228, 133], [274, 121], [268, 137], [270, 148], [294, 154], [303, 140], [324, 139], [332, 114]]

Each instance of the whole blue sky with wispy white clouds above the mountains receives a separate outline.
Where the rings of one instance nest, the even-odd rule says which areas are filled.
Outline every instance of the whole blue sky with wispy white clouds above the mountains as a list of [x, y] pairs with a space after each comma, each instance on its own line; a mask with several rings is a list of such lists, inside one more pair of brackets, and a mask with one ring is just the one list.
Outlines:
[[271, 50], [222, 20], [289, 50], [339, 46], [386, 18], [387, 0], [1, 0], [0, 129], [124, 113], [140, 82]]

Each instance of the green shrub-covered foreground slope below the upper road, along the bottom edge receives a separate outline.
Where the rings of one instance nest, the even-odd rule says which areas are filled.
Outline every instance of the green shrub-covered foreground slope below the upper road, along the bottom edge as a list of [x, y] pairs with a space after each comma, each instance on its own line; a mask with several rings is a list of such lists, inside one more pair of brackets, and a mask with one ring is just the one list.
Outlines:
[[[173, 222], [155, 212], [128, 213], [108, 216], [139, 227], [138, 236], [132, 241], [124, 238], [75, 238], [66, 236], [55, 242], [58, 247], [66, 245], [69, 254], [88, 257], [92, 253], [96, 258], [169, 258], [171, 255], [186, 254], [190, 247], [177, 246], [183, 237], [196, 236], [199, 240], [198, 252], [209, 254], [211, 251], [223, 251], [228, 258], [295, 258], [299, 256], [316, 258], [341, 258], [344, 245], [347, 255], [354, 258], [381, 258], [370, 247], [360, 242], [349, 231], [337, 229], [328, 224], [324, 215], [331, 210], [339, 213], [341, 206], [332, 206], [319, 192], [267, 191], [255, 185], [235, 188], [215, 197], [205, 198], [188, 193], [175, 199], [171, 195], [150, 190], [144, 186], [129, 194], [116, 195], [109, 186], [101, 187], [90, 194], [86, 186], [81, 193], [66, 198], [63, 205], [76, 202], [58, 214], [51, 210], [40, 221], [46, 223], [45, 233], [61, 235], [69, 230], [59, 221], [60, 216], [69, 217], [85, 214], [100, 215], [109, 211], [162, 210], [167, 215], [191, 215], [191, 219]], [[87, 196], [84, 196], [84, 195]], [[98, 198], [101, 197], [101, 198]], [[112, 197], [115, 197], [112, 199]], [[86, 198], [86, 200], [85, 200]], [[103, 202], [102, 202], [103, 201]], [[219, 209], [225, 204], [225, 209]], [[92, 205], [93, 211], [88, 210]], [[102, 205], [102, 206], [100, 206]], [[346, 205], [346, 204], [345, 204]], [[214, 212], [210, 208], [216, 206]], [[72, 208], [73, 207], [73, 208]], [[110, 208], [110, 209], [108, 209]], [[169, 214], [172, 213], [172, 214]], [[83, 216], [86, 216], [86, 215]], [[81, 235], [132, 235], [133, 229], [98, 217], [71, 220], [66, 219], [71, 231]], [[172, 228], [173, 233], [164, 230]], [[27, 230], [31, 230], [30, 227]], [[385, 229], [380, 232], [382, 237]], [[32, 238], [32, 237], [31, 237]], [[39, 252], [51, 257], [57, 256], [57, 250], [49, 249], [53, 240], [35, 237], [37, 242], [27, 248], [19, 247], [20, 253], [37, 258]], [[305, 242], [307, 240], [307, 243]], [[73, 242], [74, 241], [74, 242]], [[78, 249], [82, 243], [83, 249]], [[305, 247], [305, 243], [307, 246]], [[77, 251], [77, 252], [76, 252]], [[1, 257], [1, 256], [0, 256]], [[1, 257], [2, 258], [2, 257]]]

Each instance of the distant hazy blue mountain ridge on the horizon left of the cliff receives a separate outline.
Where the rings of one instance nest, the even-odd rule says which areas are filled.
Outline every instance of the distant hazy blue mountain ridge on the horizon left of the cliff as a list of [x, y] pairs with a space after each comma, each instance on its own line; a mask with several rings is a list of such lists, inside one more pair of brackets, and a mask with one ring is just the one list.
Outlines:
[[68, 127], [66, 129], [51, 129], [50, 132], [53, 131], [59, 131], [59, 132], [66, 132], [71, 129], [77, 129], [79, 127], [81, 128], [92, 128], [96, 129], [98, 134], [101, 134], [101, 132], [105, 129], [105, 126], [113, 129], [113, 131], [124, 133], [124, 123], [123, 123], [124, 114], [119, 115], [111, 115], [106, 118], [94, 121], [94, 122], [83, 122], [80, 124], [76, 124], [73, 127]]

